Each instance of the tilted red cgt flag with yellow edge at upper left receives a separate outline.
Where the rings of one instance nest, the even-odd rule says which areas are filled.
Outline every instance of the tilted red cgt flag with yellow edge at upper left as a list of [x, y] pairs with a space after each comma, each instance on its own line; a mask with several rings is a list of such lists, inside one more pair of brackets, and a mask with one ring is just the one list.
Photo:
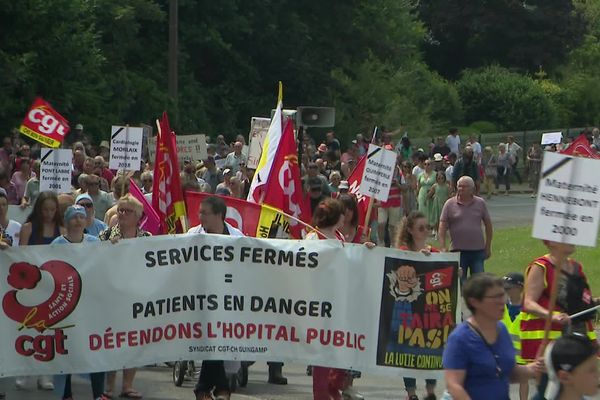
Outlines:
[[19, 132], [48, 147], [59, 147], [69, 133], [69, 121], [41, 97], [36, 97]]

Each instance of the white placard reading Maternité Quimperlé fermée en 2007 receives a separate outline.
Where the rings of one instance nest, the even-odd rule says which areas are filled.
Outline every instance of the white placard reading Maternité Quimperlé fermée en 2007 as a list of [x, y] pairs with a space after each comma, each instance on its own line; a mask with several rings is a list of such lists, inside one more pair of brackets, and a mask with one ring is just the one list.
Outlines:
[[365, 196], [379, 201], [387, 201], [395, 168], [396, 153], [394, 151], [369, 144], [359, 191]]

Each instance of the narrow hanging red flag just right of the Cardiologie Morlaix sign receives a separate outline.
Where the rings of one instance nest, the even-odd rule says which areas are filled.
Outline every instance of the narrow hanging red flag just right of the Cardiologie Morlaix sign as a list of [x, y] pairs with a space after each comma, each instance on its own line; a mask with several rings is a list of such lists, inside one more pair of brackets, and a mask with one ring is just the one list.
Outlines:
[[167, 113], [163, 112], [156, 140], [154, 162], [154, 184], [152, 185], [152, 207], [158, 214], [163, 233], [181, 232], [177, 221], [185, 216], [185, 202], [179, 180], [179, 162], [175, 133], [169, 126]]

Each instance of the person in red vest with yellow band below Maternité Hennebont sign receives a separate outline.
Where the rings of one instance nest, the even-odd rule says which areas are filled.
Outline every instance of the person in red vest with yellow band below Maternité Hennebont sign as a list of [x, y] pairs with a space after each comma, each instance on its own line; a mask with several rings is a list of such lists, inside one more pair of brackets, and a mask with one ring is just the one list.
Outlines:
[[[544, 338], [545, 319], [549, 314], [550, 293], [558, 284], [556, 307], [552, 313], [552, 324], [549, 339], [559, 338], [563, 332], [577, 332], [596, 340], [592, 321], [595, 313], [587, 313], [576, 319], [569, 315], [594, 306], [592, 293], [580, 263], [570, 258], [575, 252], [572, 244], [544, 240], [550, 251], [536, 258], [525, 272], [525, 291], [523, 311], [521, 312], [520, 337], [521, 357], [525, 362], [535, 360]], [[554, 279], [560, 268], [558, 282]], [[538, 387], [538, 395], [534, 399], [543, 399], [547, 383], [544, 376]]]

